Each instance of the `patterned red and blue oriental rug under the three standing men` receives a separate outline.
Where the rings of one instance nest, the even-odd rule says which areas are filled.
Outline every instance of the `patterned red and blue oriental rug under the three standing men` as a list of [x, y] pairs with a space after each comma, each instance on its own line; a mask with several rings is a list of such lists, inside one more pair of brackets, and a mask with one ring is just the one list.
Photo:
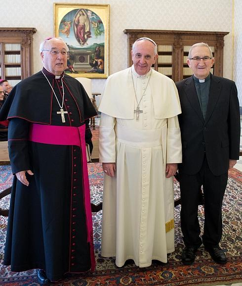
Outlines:
[[[95, 204], [102, 201], [103, 173], [100, 163], [89, 163], [91, 200]], [[9, 166], [0, 166], [0, 191], [11, 186], [12, 176]], [[138, 268], [132, 262], [122, 268], [115, 266], [114, 257], [100, 255], [102, 211], [93, 213], [96, 269], [81, 276], [67, 277], [56, 286], [207, 286], [242, 282], [242, 173], [233, 169], [229, 172], [229, 183], [223, 202], [223, 237], [221, 247], [225, 249], [228, 262], [219, 265], [211, 259], [201, 246], [196, 261], [191, 266], [181, 263], [184, 247], [180, 229], [180, 206], [175, 208], [175, 252], [169, 254], [168, 263], [154, 263], [150, 267]], [[179, 187], [175, 181], [175, 197]], [[0, 201], [1, 207], [8, 207], [8, 197]], [[199, 219], [203, 223], [203, 207], [199, 207]], [[7, 228], [7, 218], [0, 217], [0, 262]], [[0, 285], [37, 286], [36, 270], [14, 273], [10, 267], [0, 265]]]

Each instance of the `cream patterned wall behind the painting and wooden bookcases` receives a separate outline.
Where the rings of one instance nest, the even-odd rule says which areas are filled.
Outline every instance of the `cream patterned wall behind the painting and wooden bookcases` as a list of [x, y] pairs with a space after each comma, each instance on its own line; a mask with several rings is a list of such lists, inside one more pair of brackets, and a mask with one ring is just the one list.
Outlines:
[[[1, 27], [35, 27], [34, 72], [41, 68], [40, 42], [54, 34], [54, 0], [0, 0]], [[110, 4], [110, 74], [127, 67], [124, 29], [198, 30], [230, 32], [225, 36], [224, 76], [233, 77], [233, 0], [59, 0], [68, 3]], [[240, 8], [240, 0], [236, 0]], [[241, 24], [241, 17], [237, 15]], [[238, 32], [240, 27], [237, 28]], [[241, 46], [242, 43], [237, 43]], [[241, 56], [236, 52], [237, 57]], [[236, 69], [236, 62], [234, 63]], [[238, 73], [241, 73], [238, 70]], [[93, 79], [92, 91], [101, 92], [105, 79]]]

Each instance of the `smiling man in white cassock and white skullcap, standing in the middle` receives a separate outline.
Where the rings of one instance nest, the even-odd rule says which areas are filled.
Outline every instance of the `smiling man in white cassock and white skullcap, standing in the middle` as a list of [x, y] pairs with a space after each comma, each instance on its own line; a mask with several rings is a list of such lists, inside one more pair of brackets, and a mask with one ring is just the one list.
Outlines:
[[133, 65], [111, 75], [99, 106], [99, 161], [105, 172], [102, 250], [148, 267], [174, 251], [173, 175], [181, 162], [174, 82], [151, 68], [156, 43], [138, 39]]

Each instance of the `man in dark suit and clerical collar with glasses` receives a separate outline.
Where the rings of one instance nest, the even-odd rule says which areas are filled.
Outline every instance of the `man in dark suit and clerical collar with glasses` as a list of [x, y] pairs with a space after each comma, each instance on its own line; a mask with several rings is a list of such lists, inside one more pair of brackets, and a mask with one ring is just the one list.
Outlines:
[[[193, 76], [176, 83], [182, 113], [182, 163], [178, 164], [181, 190], [181, 229], [185, 248], [182, 262], [194, 262], [203, 243], [217, 263], [226, 263], [220, 248], [222, 201], [228, 169], [239, 159], [240, 110], [233, 81], [213, 76], [214, 58], [207, 44], [190, 48], [187, 63]], [[198, 203], [204, 194], [204, 231], [200, 238]]]

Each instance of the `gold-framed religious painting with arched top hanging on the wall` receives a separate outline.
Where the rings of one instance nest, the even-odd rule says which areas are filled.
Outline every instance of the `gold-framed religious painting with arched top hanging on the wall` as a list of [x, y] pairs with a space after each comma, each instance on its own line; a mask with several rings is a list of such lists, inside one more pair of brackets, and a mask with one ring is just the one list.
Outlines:
[[54, 3], [54, 30], [69, 48], [66, 73], [109, 76], [109, 4]]

